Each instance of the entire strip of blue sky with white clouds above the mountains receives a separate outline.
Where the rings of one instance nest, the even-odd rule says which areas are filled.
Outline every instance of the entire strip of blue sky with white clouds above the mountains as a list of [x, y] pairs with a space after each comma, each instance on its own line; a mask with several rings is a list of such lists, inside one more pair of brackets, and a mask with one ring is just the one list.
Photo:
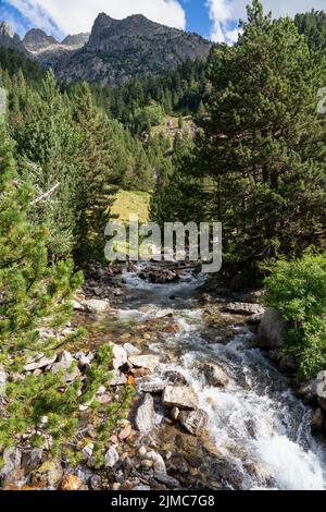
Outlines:
[[[89, 32], [96, 15], [105, 12], [123, 19], [141, 13], [168, 26], [197, 32], [217, 41], [237, 39], [238, 20], [251, 0], [0, 0], [0, 20], [23, 36], [32, 27], [57, 38]], [[312, 8], [326, 9], [326, 0], [263, 0], [275, 16], [293, 15]]]

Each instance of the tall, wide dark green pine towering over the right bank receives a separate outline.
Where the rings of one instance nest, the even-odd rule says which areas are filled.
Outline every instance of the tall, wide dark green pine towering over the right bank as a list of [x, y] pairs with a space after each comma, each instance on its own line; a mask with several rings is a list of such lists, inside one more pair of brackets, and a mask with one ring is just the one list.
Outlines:
[[317, 90], [325, 59], [290, 19], [264, 16], [258, 0], [234, 47], [211, 59], [213, 92], [198, 169], [213, 176], [225, 253], [251, 265], [325, 241], [325, 115]]

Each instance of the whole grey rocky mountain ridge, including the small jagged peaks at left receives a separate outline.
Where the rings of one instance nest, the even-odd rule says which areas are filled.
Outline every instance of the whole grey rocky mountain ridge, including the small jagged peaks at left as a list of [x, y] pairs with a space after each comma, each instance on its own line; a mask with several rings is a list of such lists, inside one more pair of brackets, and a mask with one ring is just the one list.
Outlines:
[[29, 52], [59, 80], [97, 81], [117, 85], [135, 75], [174, 69], [186, 60], [205, 60], [211, 42], [196, 35], [166, 27], [136, 14], [125, 20], [98, 15], [91, 34], [67, 36], [58, 42], [43, 31], [29, 31], [24, 40], [0, 25], [0, 46]]

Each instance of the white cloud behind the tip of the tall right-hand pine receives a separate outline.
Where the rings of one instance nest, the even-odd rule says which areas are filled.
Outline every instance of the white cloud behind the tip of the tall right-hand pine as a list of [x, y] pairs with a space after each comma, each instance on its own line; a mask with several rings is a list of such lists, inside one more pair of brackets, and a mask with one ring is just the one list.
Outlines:
[[[238, 31], [229, 28], [239, 19], [246, 19], [246, 5], [251, 0], [206, 0], [212, 21], [211, 38], [216, 42], [234, 42]], [[325, 9], [325, 0], [262, 0], [266, 12], [272, 11], [274, 17], [293, 16], [298, 12], [311, 9]]]

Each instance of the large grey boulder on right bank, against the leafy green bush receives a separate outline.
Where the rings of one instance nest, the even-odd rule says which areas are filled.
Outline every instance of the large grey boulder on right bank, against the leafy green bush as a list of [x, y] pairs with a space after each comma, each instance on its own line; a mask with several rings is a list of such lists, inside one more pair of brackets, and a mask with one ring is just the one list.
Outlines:
[[280, 312], [268, 307], [259, 327], [258, 344], [261, 349], [280, 349], [284, 345], [286, 325]]

